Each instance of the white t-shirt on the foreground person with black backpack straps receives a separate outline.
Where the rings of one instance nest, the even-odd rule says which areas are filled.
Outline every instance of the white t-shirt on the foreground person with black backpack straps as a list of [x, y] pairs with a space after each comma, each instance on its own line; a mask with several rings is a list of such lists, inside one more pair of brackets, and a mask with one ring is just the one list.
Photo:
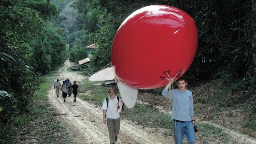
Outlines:
[[[119, 100], [119, 102], [121, 101]], [[117, 96], [115, 96], [113, 100], [111, 100], [110, 97], [108, 97], [108, 108], [107, 100], [105, 98], [102, 109], [107, 110], [106, 118], [118, 119], [120, 117], [120, 114], [117, 110]]]

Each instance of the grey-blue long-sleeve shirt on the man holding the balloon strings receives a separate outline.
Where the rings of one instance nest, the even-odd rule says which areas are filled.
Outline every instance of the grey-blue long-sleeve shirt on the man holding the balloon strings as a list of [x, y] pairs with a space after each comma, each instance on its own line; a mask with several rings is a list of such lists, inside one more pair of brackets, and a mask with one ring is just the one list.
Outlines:
[[[173, 95], [171, 95], [173, 91]], [[193, 95], [189, 90], [180, 91], [178, 89], [168, 91], [166, 88], [162, 91], [165, 98], [172, 100], [171, 119], [179, 121], [191, 121], [190, 116], [194, 116]]]

